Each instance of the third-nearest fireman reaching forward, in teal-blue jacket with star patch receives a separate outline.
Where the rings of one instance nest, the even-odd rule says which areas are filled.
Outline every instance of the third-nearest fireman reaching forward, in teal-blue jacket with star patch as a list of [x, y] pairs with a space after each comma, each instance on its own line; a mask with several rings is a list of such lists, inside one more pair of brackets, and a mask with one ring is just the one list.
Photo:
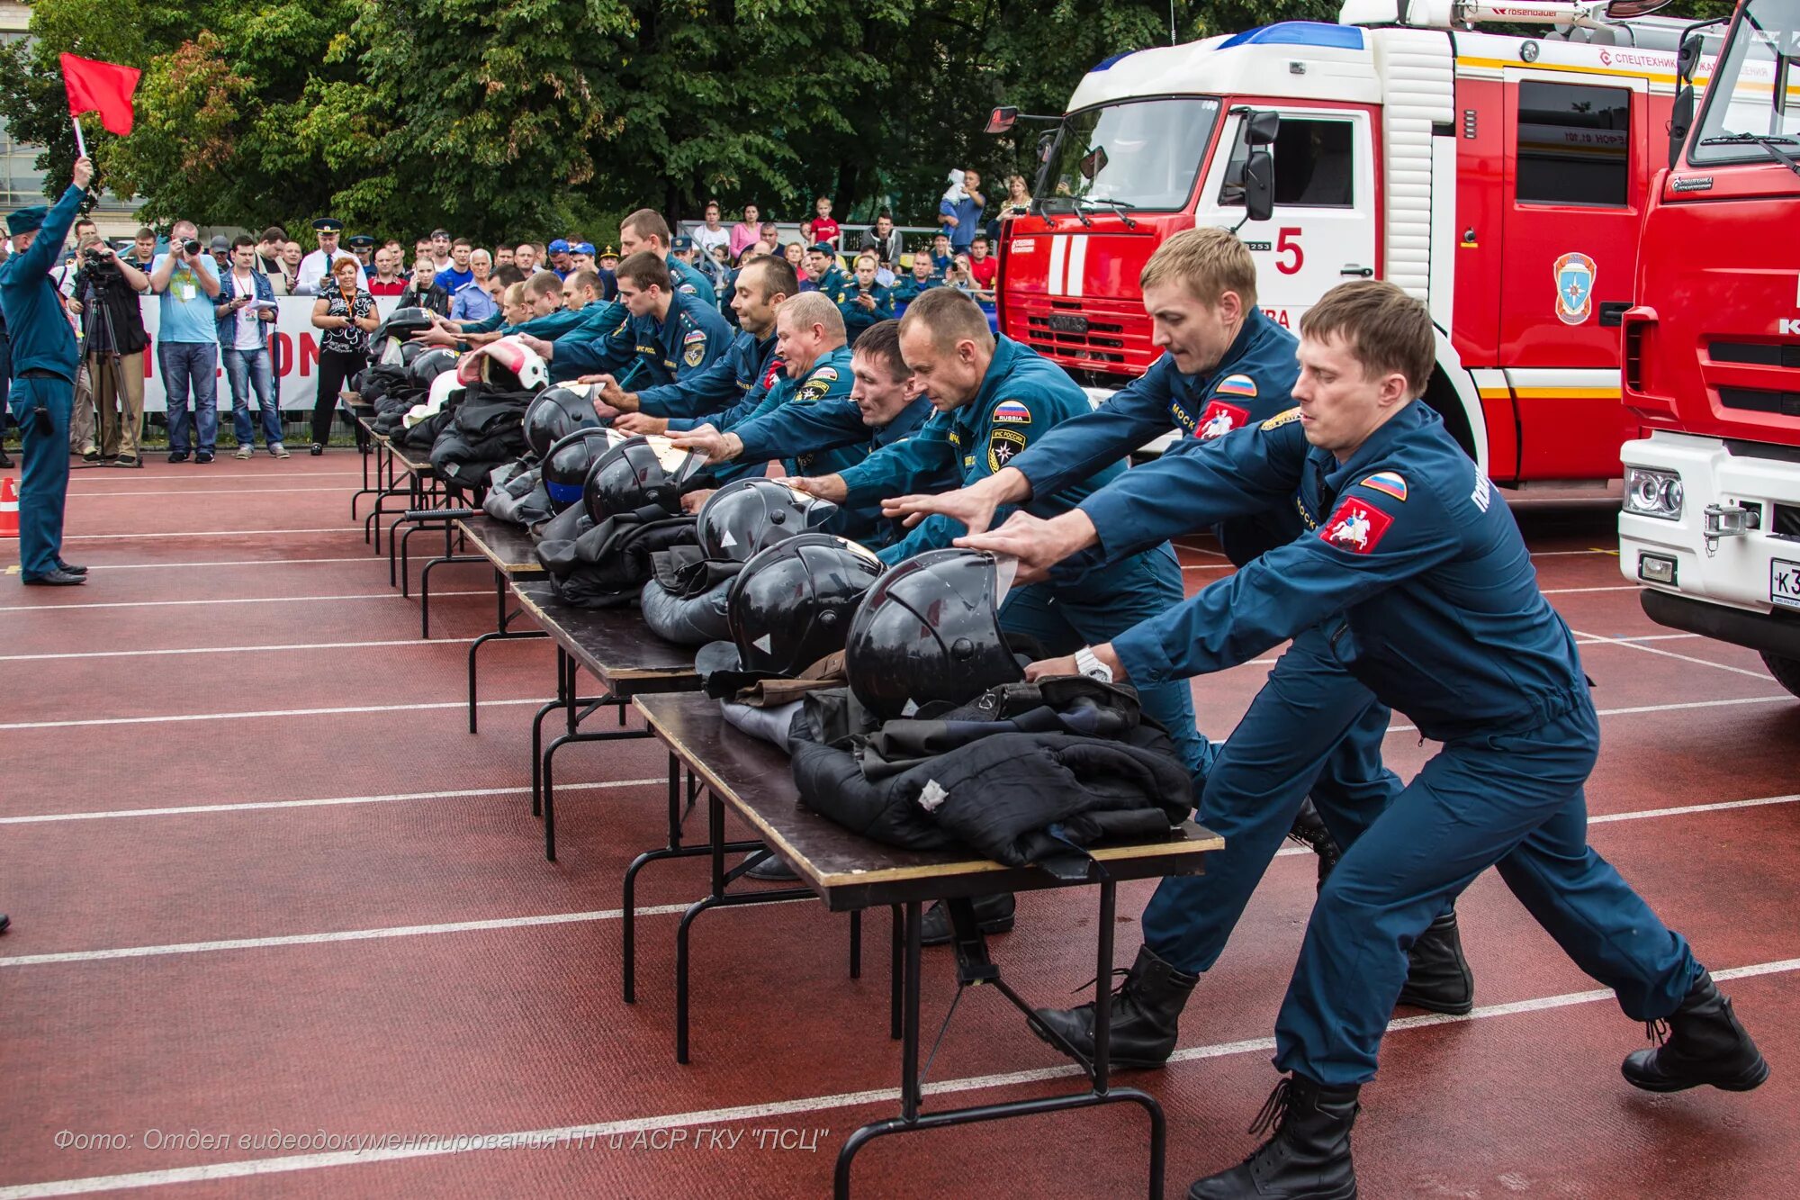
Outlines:
[[[938, 411], [911, 438], [799, 486], [851, 505], [900, 495], [947, 472], [967, 486], [1004, 468], [1046, 429], [1089, 411], [1087, 395], [1062, 368], [1010, 339], [995, 342], [976, 303], [952, 288], [914, 301], [900, 323], [900, 337], [907, 364]], [[1107, 467], [1031, 506], [1062, 512], [1118, 472], [1120, 467]], [[931, 515], [878, 553], [895, 564], [949, 546], [959, 532], [959, 523]], [[1125, 629], [1179, 600], [1181, 568], [1165, 544], [1073, 586], [1015, 589], [1006, 596], [1001, 623], [1044, 647], [1073, 647], [1084, 638], [1112, 636], [1102, 631]], [[1143, 708], [1168, 730], [1193, 773], [1202, 773], [1208, 750], [1193, 724], [1188, 686], [1145, 688]]]

